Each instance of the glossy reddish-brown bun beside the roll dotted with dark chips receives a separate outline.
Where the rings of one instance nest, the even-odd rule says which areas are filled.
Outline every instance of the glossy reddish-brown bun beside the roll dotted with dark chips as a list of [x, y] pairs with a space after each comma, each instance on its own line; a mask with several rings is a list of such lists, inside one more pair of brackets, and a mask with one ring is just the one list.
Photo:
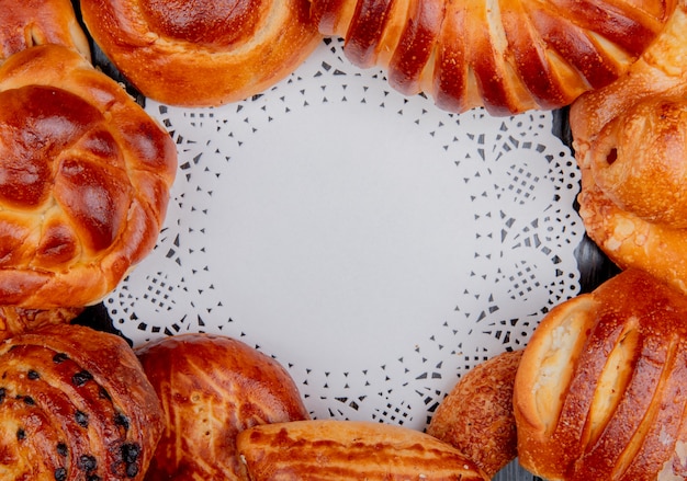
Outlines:
[[148, 481], [246, 479], [236, 453], [239, 432], [309, 417], [286, 370], [234, 339], [181, 334], [136, 353], [166, 420]]

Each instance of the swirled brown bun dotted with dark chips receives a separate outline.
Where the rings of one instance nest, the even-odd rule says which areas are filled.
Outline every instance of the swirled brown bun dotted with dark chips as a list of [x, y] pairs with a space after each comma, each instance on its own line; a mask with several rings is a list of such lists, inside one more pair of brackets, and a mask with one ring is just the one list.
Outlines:
[[53, 325], [0, 344], [0, 371], [2, 479], [144, 479], [161, 409], [124, 340]]

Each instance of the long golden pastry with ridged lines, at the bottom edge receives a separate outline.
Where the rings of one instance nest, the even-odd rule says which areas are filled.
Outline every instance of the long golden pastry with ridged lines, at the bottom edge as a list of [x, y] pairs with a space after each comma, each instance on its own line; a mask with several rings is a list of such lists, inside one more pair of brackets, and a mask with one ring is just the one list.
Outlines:
[[447, 443], [406, 427], [360, 421], [264, 424], [238, 435], [251, 481], [390, 481], [489, 478]]

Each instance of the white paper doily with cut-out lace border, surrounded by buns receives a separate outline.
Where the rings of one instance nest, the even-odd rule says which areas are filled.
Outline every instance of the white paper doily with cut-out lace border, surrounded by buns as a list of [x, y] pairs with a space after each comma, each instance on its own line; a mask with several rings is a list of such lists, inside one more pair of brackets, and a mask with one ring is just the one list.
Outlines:
[[315, 417], [424, 428], [579, 290], [578, 172], [551, 113], [442, 112], [339, 42], [254, 99], [146, 108], [180, 168], [156, 250], [105, 299], [135, 344], [230, 335]]

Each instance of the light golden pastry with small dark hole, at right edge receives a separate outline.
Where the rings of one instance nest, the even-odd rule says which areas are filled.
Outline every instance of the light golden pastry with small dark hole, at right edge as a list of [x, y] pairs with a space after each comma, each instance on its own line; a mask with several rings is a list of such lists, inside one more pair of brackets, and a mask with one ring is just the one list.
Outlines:
[[627, 76], [571, 107], [581, 216], [621, 268], [687, 293], [687, 5]]

